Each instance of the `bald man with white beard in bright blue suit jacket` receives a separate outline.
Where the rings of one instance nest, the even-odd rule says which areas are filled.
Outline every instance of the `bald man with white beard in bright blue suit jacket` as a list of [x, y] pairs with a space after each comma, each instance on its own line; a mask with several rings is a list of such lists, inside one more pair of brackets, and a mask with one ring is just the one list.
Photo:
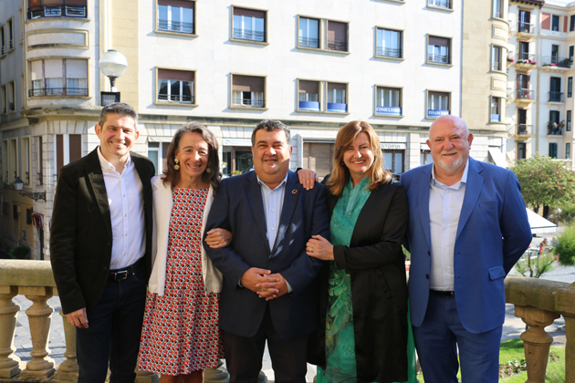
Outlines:
[[433, 164], [403, 174], [412, 254], [413, 336], [426, 383], [497, 382], [504, 279], [531, 241], [512, 171], [469, 157], [473, 134], [455, 116], [436, 119]]

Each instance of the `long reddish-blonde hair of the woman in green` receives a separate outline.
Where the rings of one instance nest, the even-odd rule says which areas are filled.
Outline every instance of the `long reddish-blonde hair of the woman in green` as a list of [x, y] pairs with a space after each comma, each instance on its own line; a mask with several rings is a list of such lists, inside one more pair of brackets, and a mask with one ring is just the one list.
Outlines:
[[333, 195], [340, 196], [345, 184], [350, 180], [350, 170], [343, 163], [343, 154], [362, 132], [367, 134], [373, 153], [373, 163], [368, 170], [370, 172], [370, 186], [367, 189], [374, 190], [392, 178], [392, 174], [382, 167], [382, 150], [375, 130], [365, 121], [351, 121], [340, 129], [335, 142], [333, 171], [327, 182], [329, 191]]

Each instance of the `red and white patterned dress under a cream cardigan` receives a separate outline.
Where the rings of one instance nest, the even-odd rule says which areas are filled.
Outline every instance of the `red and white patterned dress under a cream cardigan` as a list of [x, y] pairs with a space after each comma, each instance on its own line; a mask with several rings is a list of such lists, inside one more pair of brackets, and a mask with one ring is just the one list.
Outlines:
[[173, 190], [164, 295], [148, 293], [140, 364], [162, 375], [217, 367], [224, 357], [218, 328], [219, 294], [207, 294], [201, 237], [208, 189]]

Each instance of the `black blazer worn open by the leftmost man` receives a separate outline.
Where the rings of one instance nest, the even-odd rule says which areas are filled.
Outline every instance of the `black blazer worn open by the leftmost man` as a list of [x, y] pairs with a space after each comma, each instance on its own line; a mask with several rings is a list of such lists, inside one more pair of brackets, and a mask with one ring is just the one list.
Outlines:
[[[110, 205], [98, 148], [60, 169], [50, 232], [50, 262], [62, 303], [69, 314], [99, 301], [110, 271]], [[152, 272], [152, 161], [130, 153], [143, 187], [148, 276]]]

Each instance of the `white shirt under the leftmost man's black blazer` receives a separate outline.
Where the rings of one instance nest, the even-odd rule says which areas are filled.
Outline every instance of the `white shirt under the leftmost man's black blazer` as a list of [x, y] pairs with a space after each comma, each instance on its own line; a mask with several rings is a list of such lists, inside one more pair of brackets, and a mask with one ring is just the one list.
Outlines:
[[[116, 270], [134, 264], [146, 252], [143, 188], [130, 155], [121, 173], [102, 156], [99, 148], [98, 157], [110, 205], [112, 226], [110, 270]], [[94, 240], [100, 239], [94, 238]]]

